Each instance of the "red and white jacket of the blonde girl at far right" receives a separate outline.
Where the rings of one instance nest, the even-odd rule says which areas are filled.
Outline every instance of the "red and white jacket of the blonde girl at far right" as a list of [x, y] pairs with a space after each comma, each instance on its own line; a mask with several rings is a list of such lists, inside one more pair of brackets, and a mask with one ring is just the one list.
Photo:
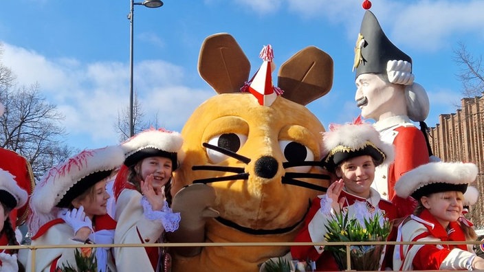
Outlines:
[[[458, 222], [450, 222], [446, 230], [425, 209], [399, 225], [397, 241], [465, 242], [465, 236]], [[472, 270], [475, 257], [472, 245], [396, 245], [393, 270]]]

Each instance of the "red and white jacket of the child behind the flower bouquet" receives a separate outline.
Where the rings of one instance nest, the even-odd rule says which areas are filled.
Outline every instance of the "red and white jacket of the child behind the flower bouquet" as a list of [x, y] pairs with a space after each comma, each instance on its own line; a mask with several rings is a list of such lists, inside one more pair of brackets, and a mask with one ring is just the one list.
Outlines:
[[[325, 242], [326, 227], [328, 219], [331, 218], [328, 212], [323, 212], [322, 210], [327, 210], [327, 207], [321, 207], [321, 199], [325, 195], [316, 197], [313, 200], [311, 208], [306, 216], [305, 226], [299, 234], [296, 236], [294, 242]], [[382, 199], [380, 194], [373, 188], [371, 188], [371, 197], [369, 199], [364, 199], [360, 196], [355, 196], [349, 194], [342, 190], [339, 199], [342, 197], [346, 198], [344, 202], [344, 208], [348, 209], [348, 213], [354, 214], [353, 205], [357, 201], [366, 202], [369, 209], [375, 210], [376, 208], [382, 210], [383, 214], [389, 220], [393, 220], [396, 216], [396, 208], [390, 202]], [[333, 211], [331, 211], [332, 213]], [[293, 258], [301, 261], [313, 260], [316, 262], [317, 271], [338, 271], [338, 265], [336, 260], [334, 260], [331, 252], [325, 251], [322, 246], [294, 246], [291, 247], [291, 254]]]

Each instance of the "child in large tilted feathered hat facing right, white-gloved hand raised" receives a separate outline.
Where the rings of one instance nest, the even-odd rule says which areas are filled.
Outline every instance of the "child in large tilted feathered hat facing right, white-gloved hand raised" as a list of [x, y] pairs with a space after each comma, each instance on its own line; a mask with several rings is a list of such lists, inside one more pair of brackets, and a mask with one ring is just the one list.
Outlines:
[[[124, 159], [120, 146], [83, 150], [45, 173], [30, 199], [32, 245], [112, 244], [115, 221], [107, 214], [106, 183]], [[78, 268], [76, 248], [39, 249], [35, 271]], [[94, 249], [93, 249], [94, 250]], [[95, 249], [97, 271], [116, 271], [111, 249]], [[32, 251], [21, 250], [27, 271]]]

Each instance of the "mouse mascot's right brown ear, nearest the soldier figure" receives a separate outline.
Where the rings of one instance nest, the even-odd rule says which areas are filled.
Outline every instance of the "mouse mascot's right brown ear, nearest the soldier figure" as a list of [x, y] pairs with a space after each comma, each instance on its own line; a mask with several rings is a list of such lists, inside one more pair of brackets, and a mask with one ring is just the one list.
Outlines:
[[277, 85], [283, 98], [307, 105], [333, 86], [333, 58], [317, 47], [306, 47], [281, 65]]

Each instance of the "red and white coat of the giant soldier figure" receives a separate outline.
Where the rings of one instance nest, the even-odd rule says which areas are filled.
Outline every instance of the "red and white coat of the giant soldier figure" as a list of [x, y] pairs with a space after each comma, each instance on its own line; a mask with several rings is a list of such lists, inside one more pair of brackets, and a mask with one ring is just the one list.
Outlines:
[[397, 206], [397, 217], [408, 216], [415, 210], [417, 202], [411, 198], [401, 199], [393, 188], [402, 174], [429, 162], [425, 137], [404, 115], [385, 118], [374, 126], [382, 141], [395, 146], [395, 161], [377, 166], [371, 187]]

